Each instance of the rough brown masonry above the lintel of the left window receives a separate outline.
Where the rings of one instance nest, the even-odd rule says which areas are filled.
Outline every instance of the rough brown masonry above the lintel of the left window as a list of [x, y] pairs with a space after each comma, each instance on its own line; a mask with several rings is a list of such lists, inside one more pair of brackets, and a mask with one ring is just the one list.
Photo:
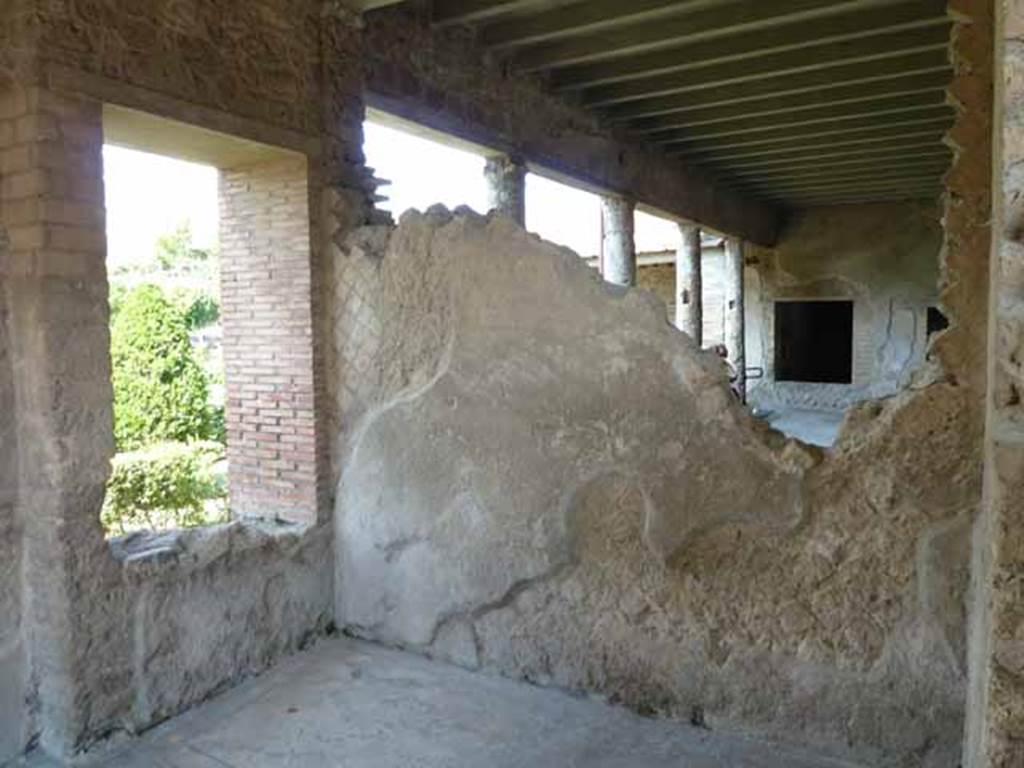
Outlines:
[[312, 0], [52, 0], [41, 16], [39, 51], [50, 69], [316, 135], [319, 7]]

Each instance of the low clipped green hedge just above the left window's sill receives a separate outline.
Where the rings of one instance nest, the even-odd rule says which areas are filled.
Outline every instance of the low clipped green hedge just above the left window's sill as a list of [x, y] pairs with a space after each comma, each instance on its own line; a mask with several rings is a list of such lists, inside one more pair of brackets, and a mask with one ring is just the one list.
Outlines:
[[215, 471], [223, 452], [216, 442], [163, 442], [114, 457], [101, 515], [108, 534], [225, 519], [223, 478]]

